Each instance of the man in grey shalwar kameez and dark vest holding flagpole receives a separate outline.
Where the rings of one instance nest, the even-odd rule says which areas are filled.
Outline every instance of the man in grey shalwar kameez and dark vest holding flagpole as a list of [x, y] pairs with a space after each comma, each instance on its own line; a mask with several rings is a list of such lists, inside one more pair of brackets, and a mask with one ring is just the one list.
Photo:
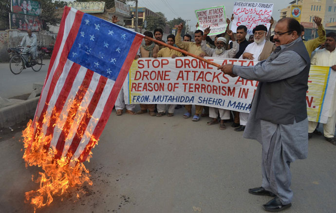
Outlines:
[[275, 197], [266, 211], [289, 208], [290, 163], [308, 154], [306, 91], [310, 57], [302, 42], [300, 24], [282, 18], [275, 27], [277, 48], [256, 66], [220, 66], [225, 74], [257, 80], [259, 85], [243, 136], [262, 145], [262, 184], [249, 189], [253, 195]]

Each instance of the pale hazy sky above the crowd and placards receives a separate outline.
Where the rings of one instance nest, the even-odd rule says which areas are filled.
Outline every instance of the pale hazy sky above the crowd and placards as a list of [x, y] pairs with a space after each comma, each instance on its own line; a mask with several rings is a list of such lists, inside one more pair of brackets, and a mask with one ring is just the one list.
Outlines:
[[[185, 20], [189, 19], [191, 30], [194, 31], [196, 29], [195, 10], [224, 5], [226, 17], [230, 18], [236, 1], [274, 3], [272, 16], [278, 20], [280, 10], [287, 7], [292, 0], [138, 0], [138, 6], [147, 7], [154, 12], [162, 12], [168, 20], [179, 16]], [[135, 6], [135, 3], [131, 4]]]

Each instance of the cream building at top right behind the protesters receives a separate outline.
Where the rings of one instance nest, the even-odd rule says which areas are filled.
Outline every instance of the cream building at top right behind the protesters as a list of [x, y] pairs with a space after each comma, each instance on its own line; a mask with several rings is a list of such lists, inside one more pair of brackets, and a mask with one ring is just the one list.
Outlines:
[[306, 40], [317, 37], [317, 26], [314, 17], [322, 18], [322, 24], [326, 32], [336, 32], [336, 0], [294, 0], [290, 5], [280, 10], [280, 18], [291, 16], [291, 5], [302, 5], [301, 24], [304, 26]]

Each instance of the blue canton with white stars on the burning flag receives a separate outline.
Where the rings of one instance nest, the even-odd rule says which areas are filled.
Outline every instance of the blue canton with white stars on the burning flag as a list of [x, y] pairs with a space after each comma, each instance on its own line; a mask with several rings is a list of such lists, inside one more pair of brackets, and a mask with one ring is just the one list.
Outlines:
[[115, 81], [136, 33], [84, 14], [68, 59]]

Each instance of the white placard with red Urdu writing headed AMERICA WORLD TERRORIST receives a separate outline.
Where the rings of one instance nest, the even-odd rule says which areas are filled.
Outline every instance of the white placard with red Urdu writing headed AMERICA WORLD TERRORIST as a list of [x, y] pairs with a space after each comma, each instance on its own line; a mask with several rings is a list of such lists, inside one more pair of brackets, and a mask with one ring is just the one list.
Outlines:
[[253, 34], [252, 30], [257, 25], [265, 25], [269, 29], [272, 12], [273, 4], [271, 3], [237, 1], [233, 6], [234, 19], [231, 30], [233, 33], [237, 33], [239, 25], [245, 25], [248, 34]]

